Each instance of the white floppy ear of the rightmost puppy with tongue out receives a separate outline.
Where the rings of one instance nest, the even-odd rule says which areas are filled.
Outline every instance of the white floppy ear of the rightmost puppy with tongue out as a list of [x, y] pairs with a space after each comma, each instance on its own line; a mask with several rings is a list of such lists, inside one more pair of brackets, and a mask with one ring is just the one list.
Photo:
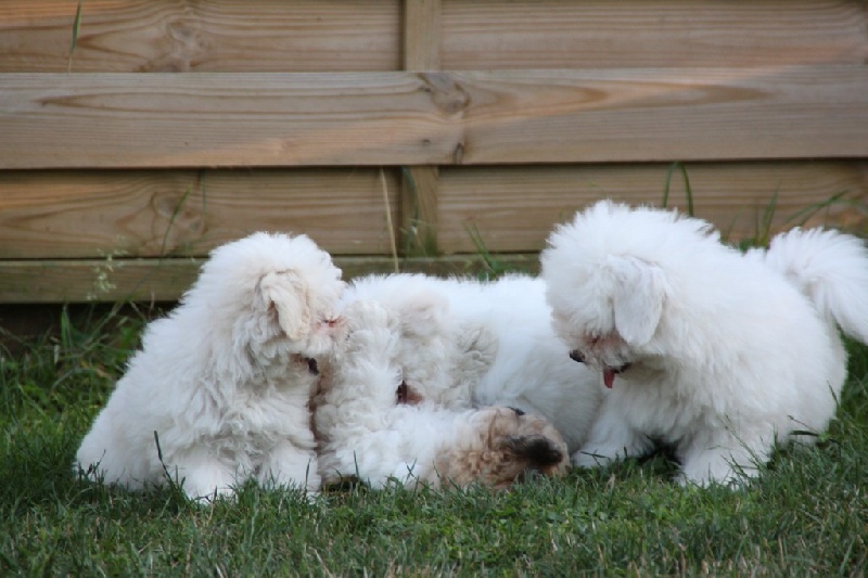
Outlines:
[[611, 257], [614, 274], [612, 305], [615, 329], [628, 345], [644, 345], [654, 335], [663, 314], [666, 280], [655, 265], [630, 256]]

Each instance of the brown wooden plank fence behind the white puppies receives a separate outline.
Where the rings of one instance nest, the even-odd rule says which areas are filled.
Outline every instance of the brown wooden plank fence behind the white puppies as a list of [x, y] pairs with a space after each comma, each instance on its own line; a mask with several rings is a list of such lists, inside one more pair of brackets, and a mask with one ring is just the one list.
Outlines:
[[731, 237], [863, 231], [866, 158], [861, 0], [0, 0], [0, 303], [175, 299], [255, 230], [533, 268], [675, 162]]

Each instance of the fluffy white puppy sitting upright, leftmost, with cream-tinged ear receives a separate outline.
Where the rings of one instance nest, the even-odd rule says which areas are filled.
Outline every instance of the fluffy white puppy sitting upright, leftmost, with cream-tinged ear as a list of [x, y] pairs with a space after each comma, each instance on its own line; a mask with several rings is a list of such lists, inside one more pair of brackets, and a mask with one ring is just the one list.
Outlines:
[[180, 305], [146, 327], [77, 467], [131, 489], [170, 476], [196, 499], [251, 478], [316, 491], [314, 360], [345, 334], [334, 317], [344, 287], [304, 235], [216, 248]]

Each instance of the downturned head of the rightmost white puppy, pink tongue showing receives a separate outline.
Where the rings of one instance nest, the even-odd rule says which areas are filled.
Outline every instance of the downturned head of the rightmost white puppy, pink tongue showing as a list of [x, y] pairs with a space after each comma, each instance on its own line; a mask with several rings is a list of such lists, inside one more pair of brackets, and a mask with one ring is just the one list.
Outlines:
[[[585, 217], [585, 216], [582, 216]], [[652, 342], [669, 298], [662, 267], [628, 251], [610, 251], [577, 218], [557, 229], [540, 258], [556, 332], [570, 357], [614, 375], [639, 361]]]

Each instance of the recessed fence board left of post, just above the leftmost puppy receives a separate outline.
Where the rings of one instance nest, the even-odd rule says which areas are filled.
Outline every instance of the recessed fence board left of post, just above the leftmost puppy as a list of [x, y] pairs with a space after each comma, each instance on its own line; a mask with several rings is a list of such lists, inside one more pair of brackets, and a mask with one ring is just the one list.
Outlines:
[[[398, 175], [387, 170], [392, 222]], [[258, 230], [388, 254], [380, 169], [0, 172], [0, 259], [202, 256]]]

